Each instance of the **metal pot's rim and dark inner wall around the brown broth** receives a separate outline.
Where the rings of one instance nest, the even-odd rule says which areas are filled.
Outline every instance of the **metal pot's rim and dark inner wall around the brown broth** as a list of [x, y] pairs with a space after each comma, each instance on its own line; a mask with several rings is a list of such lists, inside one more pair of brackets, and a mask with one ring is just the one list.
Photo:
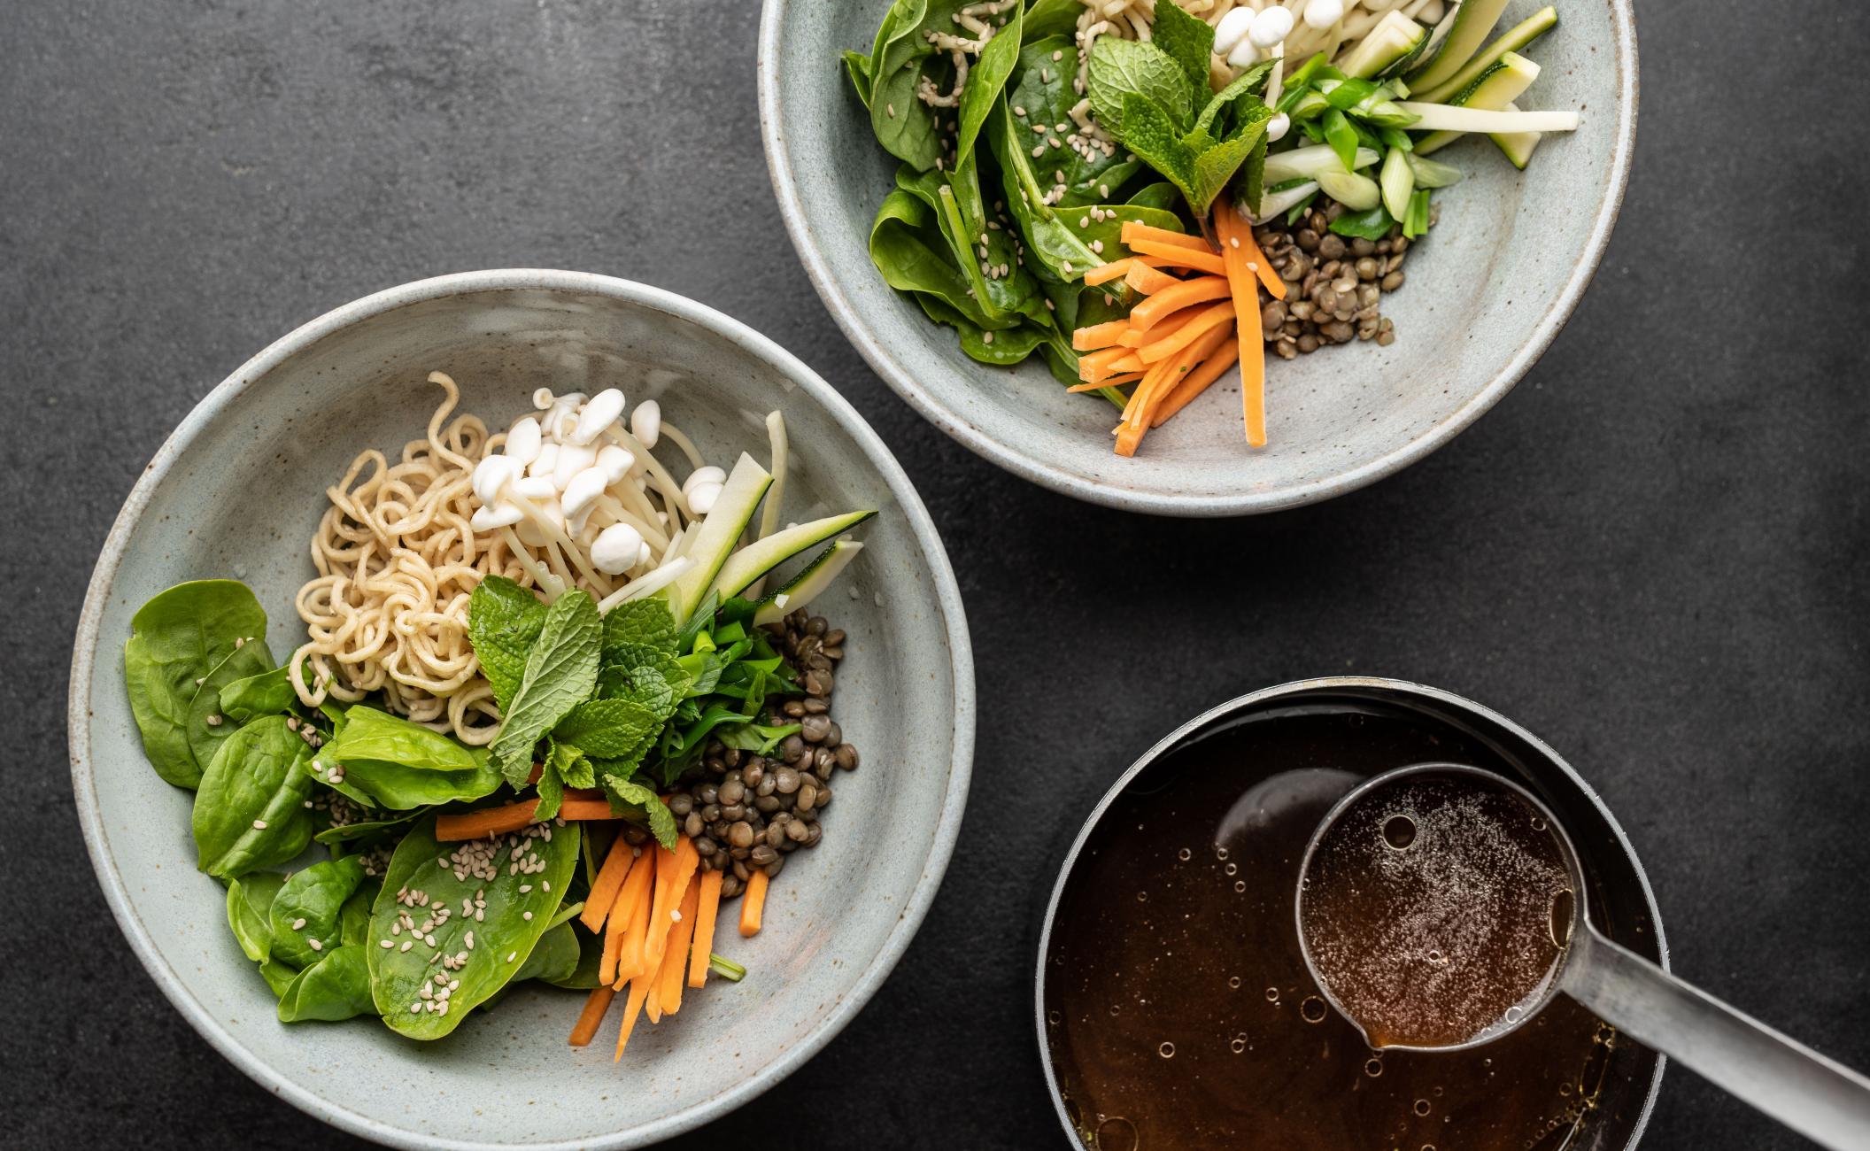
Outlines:
[[[1204, 742], [1249, 723], [1294, 716], [1337, 718], [1346, 714], [1376, 718], [1380, 723], [1406, 721], [1412, 729], [1427, 732], [1446, 747], [1466, 751], [1466, 755], [1453, 755], [1451, 759], [1464, 759], [1475, 762], [1475, 766], [1496, 770], [1528, 787], [1571, 831], [1584, 863], [1593, 917], [1601, 921], [1604, 932], [1625, 947], [1662, 966], [1668, 964], [1668, 949], [1662, 940], [1655, 897], [1629, 839], [1603, 800], [1597, 798], [1597, 792], [1532, 732], [1468, 699], [1402, 680], [1341, 676], [1266, 688], [1197, 716], [1150, 747], [1111, 785], [1066, 852], [1040, 932], [1034, 1026], [1053, 1104], [1073, 1145], [1088, 1145], [1092, 1151], [1111, 1151], [1109, 1147], [1100, 1147], [1098, 1138], [1086, 1138], [1086, 1132], [1094, 1130], [1094, 1123], [1088, 1123], [1083, 1114], [1073, 1115], [1073, 1101], [1068, 1099], [1066, 1082], [1053, 1048], [1060, 1013], [1055, 1009], [1057, 1003], [1047, 1000], [1047, 968], [1051, 968], [1055, 979], [1064, 973], [1064, 968], [1058, 968], [1051, 960], [1055, 927], [1060, 906], [1070, 904], [1073, 876], [1086, 871], [1081, 865], [1086, 845], [1094, 841], [1100, 824], [1113, 807], [1122, 809], [1129, 802], [1143, 802], [1148, 796], [1165, 792], [1174, 775], [1180, 774], [1180, 768], [1171, 768], [1178, 762], [1187, 762], [1187, 757], [1178, 757], [1176, 753], [1201, 747]], [[1356, 742], [1356, 736], [1346, 732], [1343, 742], [1348, 747]], [[1371, 755], [1380, 757], [1386, 751]], [[1444, 755], [1440, 759], [1449, 757]], [[1365, 762], [1356, 755], [1348, 757], [1346, 762], [1358, 766], [1333, 768], [1335, 775], [1345, 777], [1345, 783], [1335, 787], [1343, 787], [1345, 790], [1354, 787], [1356, 777], [1374, 775], [1378, 770], [1378, 764]], [[1272, 777], [1272, 772], [1268, 772], [1268, 777]], [[1245, 781], [1249, 775], [1242, 775], [1240, 779]], [[1128, 824], [1124, 824], [1122, 831], [1113, 824], [1098, 837], [1098, 845], [1113, 843], [1113, 837], [1120, 833], [1128, 833]], [[1187, 854], [1182, 858], [1186, 860]], [[1064, 987], [1060, 981], [1058, 994], [1064, 994]], [[1569, 1142], [1567, 1151], [1627, 1151], [1634, 1147], [1647, 1123], [1649, 1108], [1655, 1102], [1655, 1093], [1662, 1080], [1662, 1063], [1661, 1056], [1634, 1043], [1621, 1041], [1612, 1044], [1603, 1080], [1606, 1084], [1604, 1093], [1599, 1095], [1590, 1119], [1578, 1127], [1578, 1136], [1582, 1138]]]

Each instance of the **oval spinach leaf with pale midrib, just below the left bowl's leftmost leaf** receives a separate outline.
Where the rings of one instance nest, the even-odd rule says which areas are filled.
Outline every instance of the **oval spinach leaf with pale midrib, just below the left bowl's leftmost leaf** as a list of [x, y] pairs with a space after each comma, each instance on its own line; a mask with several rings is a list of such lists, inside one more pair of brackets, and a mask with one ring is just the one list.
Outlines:
[[312, 777], [301, 766], [310, 757], [284, 716], [254, 719], [221, 744], [194, 796], [202, 871], [236, 878], [305, 850], [312, 841], [312, 811], [305, 807]]

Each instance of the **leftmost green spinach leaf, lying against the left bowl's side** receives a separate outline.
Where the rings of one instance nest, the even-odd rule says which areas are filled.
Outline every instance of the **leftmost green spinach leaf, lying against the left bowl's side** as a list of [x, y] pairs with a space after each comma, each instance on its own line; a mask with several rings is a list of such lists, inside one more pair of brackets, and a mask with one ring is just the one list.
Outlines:
[[234, 579], [178, 583], [131, 617], [123, 680], [142, 751], [157, 775], [176, 787], [200, 785], [208, 760], [193, 749], [194, 697], [223, 660], [264, 635], [266, 611], [247, 585]]

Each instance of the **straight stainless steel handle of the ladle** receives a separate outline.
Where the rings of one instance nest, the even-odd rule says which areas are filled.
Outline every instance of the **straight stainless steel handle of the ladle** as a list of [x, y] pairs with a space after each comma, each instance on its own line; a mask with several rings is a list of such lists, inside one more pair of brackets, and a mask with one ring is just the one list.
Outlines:
[[1573, 951], [1563, 990], [1599, 1018], [1833, 1151], [1870, 1149], [1870, 1078], [1590, 927]]

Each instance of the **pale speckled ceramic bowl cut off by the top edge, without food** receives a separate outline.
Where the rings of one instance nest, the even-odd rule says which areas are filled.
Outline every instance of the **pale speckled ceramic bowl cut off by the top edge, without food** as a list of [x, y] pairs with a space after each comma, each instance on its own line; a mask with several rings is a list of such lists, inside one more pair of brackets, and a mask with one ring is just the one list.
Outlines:
[[[1502, 26], [1545, 0], [1513, 0]], [[1268, 437], [1240, 430], [1240, 376], [1150, 432], [1133, 460], [1111, 452], [1115, 409], [1066, 396], [1034, 357], [976, 364], [948, 329], [870, 263], [870, 222], [896, 159], [871, 136], [843, 75], [868, 50], [886, 0], [767, 0], [759, 112], [780, 213], [806, 273], [864, 359], [916, 411], [987, 460], [1066, 495], [1169, 516], [1238, 516], [1328, 499], [1382, 478], [1492, 407], [1552, 342], [1597, 269], [1636, 138], [1631, 0], [1558, 0], [1561, 24], [1528, 54], [1537, 108], [1582, 108], [1526, 174], [1485, 138], [1436, 159], [1468, 179], [1436, 196], [1440, 224], [1410, 250], [1386, 297], [1389, 348], [1352, 344], [1268, 364]]]

